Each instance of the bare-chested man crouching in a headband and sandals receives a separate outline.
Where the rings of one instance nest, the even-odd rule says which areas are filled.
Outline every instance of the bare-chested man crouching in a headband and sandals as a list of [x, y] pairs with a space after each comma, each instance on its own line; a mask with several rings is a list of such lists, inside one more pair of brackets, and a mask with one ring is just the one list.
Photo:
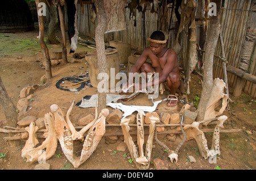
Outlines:
[[[150, 42], [150, 47], [143, 51], [133, 68], [131, 68], [131, 73], [139, 73], [139, 71], [146, 74], [159, 73], [159, 79], [158, 82], [139, 83], [139, 85], [135, 86], [139, 86], [139, 90], [142, 90], [148, 85], [154, 86], [154, 83], [157, 85], [167, 82], [167, 86], [170, 88], [167, 106], [176, 106], [177, 97], [175, 93], [180, 86], [177, 54], [173, 49], [166, 47], [164, 33], [161, 31], [153, 32], [148, 41]], [[146, 62], [147, 58], [150, 58], [152, 64]], [[130, 83], [127, 83], [127, 87], [129, 87]]]

